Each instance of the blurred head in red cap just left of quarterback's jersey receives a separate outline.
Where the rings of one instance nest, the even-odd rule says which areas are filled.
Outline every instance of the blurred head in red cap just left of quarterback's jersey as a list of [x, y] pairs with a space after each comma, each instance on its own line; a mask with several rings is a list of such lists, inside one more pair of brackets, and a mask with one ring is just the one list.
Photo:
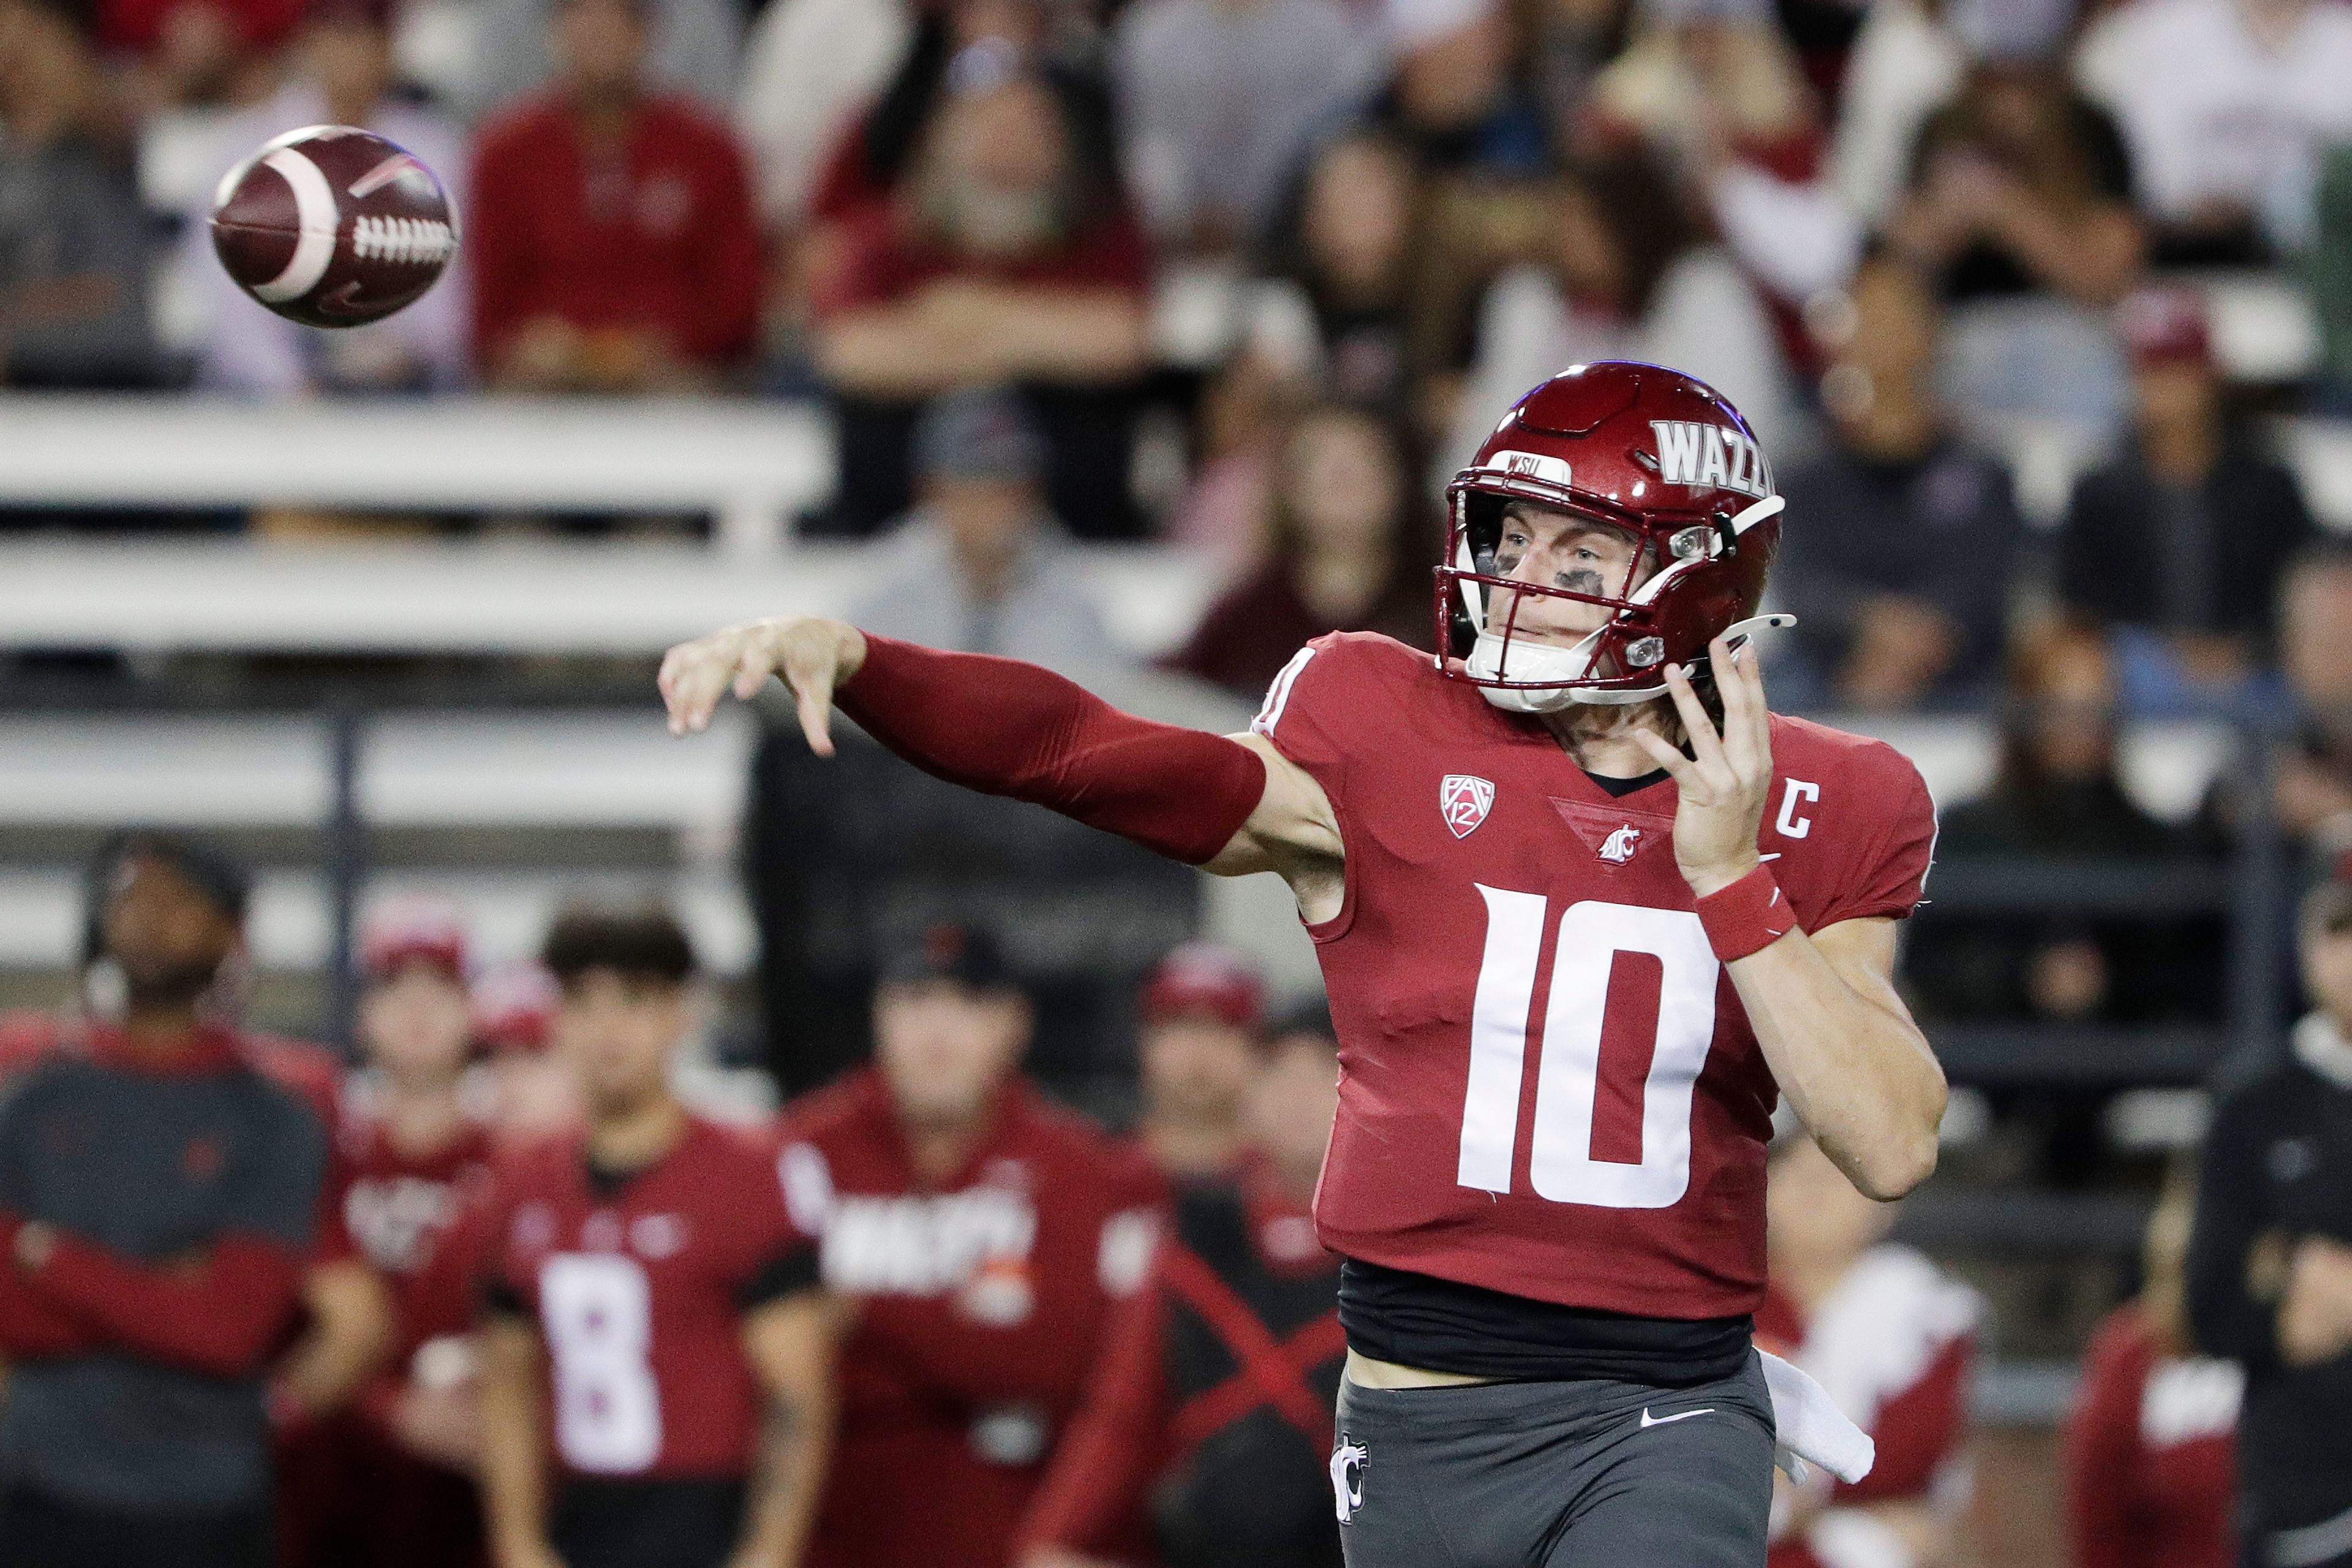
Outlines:
[[1247, 1147], [1265, 983], [1240, 952], [1185, 943], [1136, 999], [1143, 1119], [1136, 1135], [1178, 1180], [1228, 1175]]

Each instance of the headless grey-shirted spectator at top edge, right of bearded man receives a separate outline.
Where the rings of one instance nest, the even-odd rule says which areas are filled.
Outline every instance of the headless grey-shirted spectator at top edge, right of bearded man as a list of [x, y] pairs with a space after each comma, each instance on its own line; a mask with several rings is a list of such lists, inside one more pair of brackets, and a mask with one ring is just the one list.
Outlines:
[[1341, 0], [1136, 0], [1112, 78], [1127, 183], [1162, 249], [1230, 254], [1277, 216], [1310, 127], [1367, 75]]

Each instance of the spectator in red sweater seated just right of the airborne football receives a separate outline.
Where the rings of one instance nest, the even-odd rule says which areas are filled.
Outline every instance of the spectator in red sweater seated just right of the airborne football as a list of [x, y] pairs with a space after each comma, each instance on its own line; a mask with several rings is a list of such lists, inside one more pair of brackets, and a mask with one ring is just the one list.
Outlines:
[[482, 132], [473, 339], [510, 390], [708, 386], [753, 343], [760, 237], [724, 125], [644, 87], [635, 0], [560, 0], [555, 89]]

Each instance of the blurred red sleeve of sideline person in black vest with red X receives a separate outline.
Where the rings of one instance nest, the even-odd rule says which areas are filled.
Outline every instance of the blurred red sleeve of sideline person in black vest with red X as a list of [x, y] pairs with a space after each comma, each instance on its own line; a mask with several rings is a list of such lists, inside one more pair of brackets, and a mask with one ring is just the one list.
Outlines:
[[1164, 1321], [1157, 1279], [1120, 1305], [1087, 1378], [1084, 1401], [1021, 1519], [1011, 1561], [1040, 1547], [1098, 1549], [1143, 1505], [1143, 1490], [1167, 1455]]

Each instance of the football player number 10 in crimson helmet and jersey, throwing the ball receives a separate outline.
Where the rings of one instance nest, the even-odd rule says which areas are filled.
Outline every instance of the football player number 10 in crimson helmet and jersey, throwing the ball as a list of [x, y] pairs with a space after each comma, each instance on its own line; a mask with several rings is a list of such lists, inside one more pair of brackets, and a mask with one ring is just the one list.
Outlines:
[[818, 752], [840, 701], [948, 780], [1284, 877], [1341, 1037], [1348, 1561], [1755, 1566], [1771, 1112], [1870, 1197], [1933, 1168], [1943, 1072], [1893, 990], [1933, 809], [1893, 750], [1766, 712], [1780, 498], [1703, 383], [1573, 367], [1449, 494], [1454, 656], [1322, 637], [1247, 736], [807, 618], [673, 649], [670, 724], [783, 675]]

